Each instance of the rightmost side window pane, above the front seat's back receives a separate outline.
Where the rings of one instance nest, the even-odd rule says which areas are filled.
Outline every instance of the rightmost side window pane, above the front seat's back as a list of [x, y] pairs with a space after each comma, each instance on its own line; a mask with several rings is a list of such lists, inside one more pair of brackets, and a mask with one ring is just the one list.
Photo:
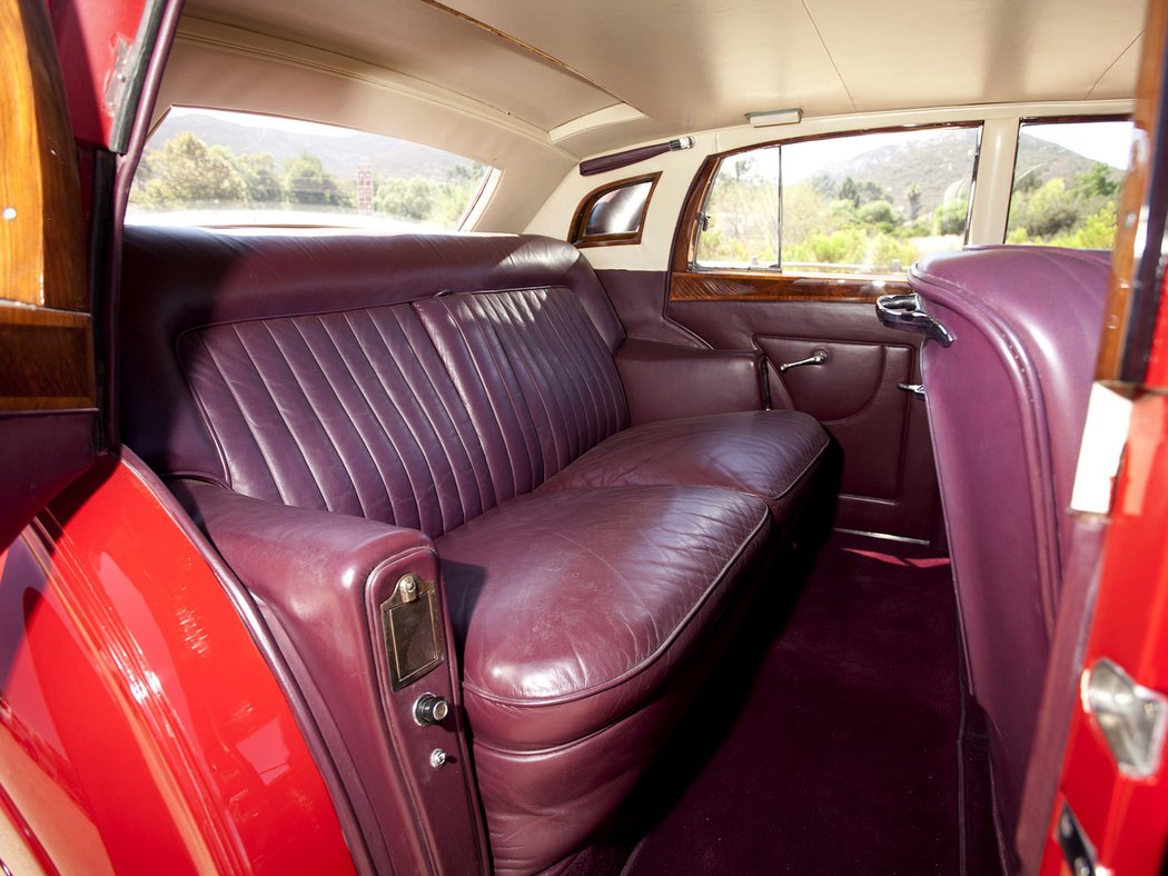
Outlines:
[[1024, 121], [1006, 242], [1111, 249], [1131, 121]]

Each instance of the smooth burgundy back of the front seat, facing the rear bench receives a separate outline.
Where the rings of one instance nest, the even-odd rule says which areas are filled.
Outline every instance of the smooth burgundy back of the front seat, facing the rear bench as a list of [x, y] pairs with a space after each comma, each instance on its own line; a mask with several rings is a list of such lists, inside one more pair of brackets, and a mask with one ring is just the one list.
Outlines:
[[933, 256], [909, 274], [954, 338], [925, 343], [922, 373], [1004, 837], [1042, 700], [1108, 276], [1106, 256], [1037, 246]]

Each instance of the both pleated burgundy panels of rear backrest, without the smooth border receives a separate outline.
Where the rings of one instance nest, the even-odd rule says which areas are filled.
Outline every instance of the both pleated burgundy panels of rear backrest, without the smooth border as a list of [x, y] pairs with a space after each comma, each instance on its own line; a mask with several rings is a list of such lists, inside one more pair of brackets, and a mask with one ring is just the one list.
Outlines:
[[625, 426], [612, 356], [570, 290], [416, 306], [185, 335], [228, 485], [437, 537]]

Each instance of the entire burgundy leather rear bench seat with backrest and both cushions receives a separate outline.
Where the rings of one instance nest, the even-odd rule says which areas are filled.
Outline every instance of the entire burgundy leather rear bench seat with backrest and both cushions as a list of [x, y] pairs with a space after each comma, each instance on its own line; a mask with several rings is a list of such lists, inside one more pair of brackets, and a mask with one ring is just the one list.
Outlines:
[[440, 569], [493, 864], [533, 871], [627, 793], [794, 519], [819, 424], [630, 427], [624, 342], [586, 262], [547, 238], [127, 229], [123, 440], [319, 691], [366, 834], [370, 752], [392, 756], [376, 607], [404, 569]]

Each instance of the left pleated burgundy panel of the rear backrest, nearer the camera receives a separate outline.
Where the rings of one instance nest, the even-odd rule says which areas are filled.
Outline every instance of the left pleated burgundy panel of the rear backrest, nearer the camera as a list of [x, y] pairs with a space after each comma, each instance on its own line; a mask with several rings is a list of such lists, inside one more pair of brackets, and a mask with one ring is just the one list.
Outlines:
[[239, 493], [431, 536], [496, 503], [482, 443], [409, 305], [214, 326], [181, 354]]

